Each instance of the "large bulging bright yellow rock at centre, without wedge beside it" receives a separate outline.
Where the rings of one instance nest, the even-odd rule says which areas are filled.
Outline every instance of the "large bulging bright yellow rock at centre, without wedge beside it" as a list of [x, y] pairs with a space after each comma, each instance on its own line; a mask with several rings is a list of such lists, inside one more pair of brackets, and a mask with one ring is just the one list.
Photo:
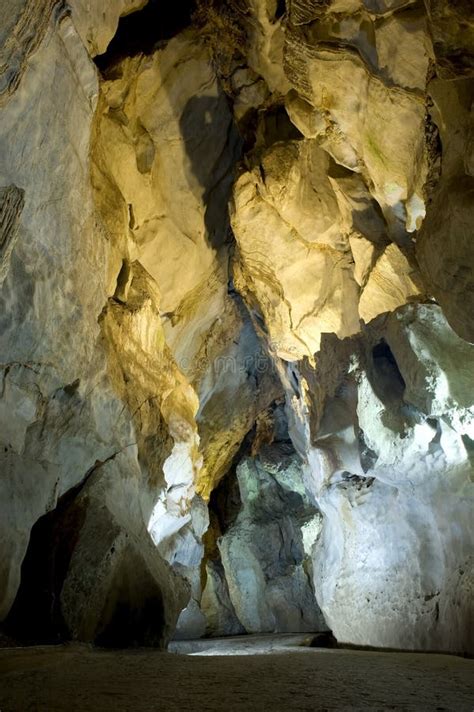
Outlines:
[[312, 357], [324, 332], [358, 329], [358, 286], [326, 162], [311, 142], [276, 145], [263, 178], [245, 173], [234, 189], [237, 286], [258, 304], [272, 350], [290, 361]]

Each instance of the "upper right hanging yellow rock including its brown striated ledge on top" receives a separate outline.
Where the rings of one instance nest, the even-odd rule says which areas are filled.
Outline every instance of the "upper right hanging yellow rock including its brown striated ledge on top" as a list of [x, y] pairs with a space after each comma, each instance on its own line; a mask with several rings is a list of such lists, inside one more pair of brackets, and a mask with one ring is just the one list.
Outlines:
[[426, 18], [416, 11], [377, 23], [365, 13], [343, 24], [328, 16], [307, 28], [290, 25], [285, 37], [286, 72], [300, 97], [290, 116], [335, 161], [364, 176], [398, 240], [425, 214], [420, 91], [431, 56]]

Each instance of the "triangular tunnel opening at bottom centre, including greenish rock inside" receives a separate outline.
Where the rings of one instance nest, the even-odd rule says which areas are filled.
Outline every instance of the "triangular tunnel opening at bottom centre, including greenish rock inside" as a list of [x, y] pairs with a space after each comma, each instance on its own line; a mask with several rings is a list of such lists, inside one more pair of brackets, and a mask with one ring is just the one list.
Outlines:
[[[312, 555], [321, 527], [278, 401], [211, 493], [199, 590], [178, 620], [172, 649], [230, 654], [222, 650], [245, 647], [248, 639], [248, 653], [266, 645], [263, 639], [250, 643], [248, 636], [283, 636], [283, 644], [290, 635], [309, 644], [313, 634], [327, 634], [313, 586]], [[232, 636], [242, 640], [231, 640], [228, 648], [212, 643]], [[202, 637], [208, 642], [186, 642]], [[323, 638], [321, 645], [328, 644], [330, 637]]]

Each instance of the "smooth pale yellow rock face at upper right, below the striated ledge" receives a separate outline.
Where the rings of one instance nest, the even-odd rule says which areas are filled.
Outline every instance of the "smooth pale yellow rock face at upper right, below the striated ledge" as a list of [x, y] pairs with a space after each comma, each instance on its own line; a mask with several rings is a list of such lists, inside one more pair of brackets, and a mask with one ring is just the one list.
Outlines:
[[427, 175], [423, 100], [386, 87], [349, 55], [321, 51], [310, 66], [312, 93], [326, 119], [324, 147], [338, 161], [338, 146], [348, 143], [355, 162], [347, 167], [370, 178], [390, 222], [405, 223], [405, 204], [421, 198]]

